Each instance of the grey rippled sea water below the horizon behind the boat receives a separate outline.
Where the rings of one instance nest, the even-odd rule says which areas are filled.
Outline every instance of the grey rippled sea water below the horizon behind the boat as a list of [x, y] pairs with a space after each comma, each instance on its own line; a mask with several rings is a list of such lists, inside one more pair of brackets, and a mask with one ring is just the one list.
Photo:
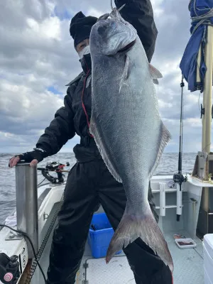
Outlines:
[[[195, 157], [197, 153], [182, 154], [182, 173], [190, 173], [194, 168]], [[0, 223], [4, 222], [16, 208], [16, 180], [15, 169], [8, 168], [9, 159], [13, 156], [11, 153], [0, 153]], [[75, 164], [73, 153], [58, 153], [45, 158], [39, 167], [44, 167], [48, 161], [58, 161], [60, 163], [70, 163], [66, 169], [72, 168]], [[178, 153], [163, 153], [155, 175], [173, 175], [178, 171]], [[43, 180], [43, 175], [38, 171], [38, 184]]]

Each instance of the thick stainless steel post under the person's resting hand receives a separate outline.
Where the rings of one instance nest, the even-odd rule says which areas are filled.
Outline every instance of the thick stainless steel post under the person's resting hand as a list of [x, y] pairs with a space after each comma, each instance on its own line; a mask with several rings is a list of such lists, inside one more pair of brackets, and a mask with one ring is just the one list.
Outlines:
[[[37, 168], [29, 163], [16, 165], [16, 217], [17, 229], [26, 232], [38, 253], [38, 193]], [[31, 245], [28, 243], [28, 258], [33, 258]]]

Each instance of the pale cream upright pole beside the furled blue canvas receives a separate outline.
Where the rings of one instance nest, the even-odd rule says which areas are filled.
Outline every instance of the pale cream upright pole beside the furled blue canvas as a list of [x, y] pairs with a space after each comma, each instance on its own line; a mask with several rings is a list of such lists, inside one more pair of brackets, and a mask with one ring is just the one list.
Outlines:
[[[204, 77], [203, 107], [202, 116], [202, 151], [210, 153], [211, 148], [211, 122], [212, 122], [212, 64], [213, 64], [213, 27], [208, 26], [207, 46], [205, 50], [205, 64], [207, 72]], [[207, 177], [206, 177], [207, 178]], [[202, 208], [209, 211], [209, 189], [204, 187]]]

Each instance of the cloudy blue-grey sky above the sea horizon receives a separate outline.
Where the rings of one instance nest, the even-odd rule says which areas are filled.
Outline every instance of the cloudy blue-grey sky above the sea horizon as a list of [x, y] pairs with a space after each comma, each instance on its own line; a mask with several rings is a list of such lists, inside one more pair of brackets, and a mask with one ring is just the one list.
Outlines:
[[[163, 74], [156, 88], [160, 114], [173, 140], [165, 151], [178, 152], [180, 60], [190, 38], [187, 0], [152, 0], [158, 40], [152, 64]], [[0, 153], [35, 147], [40, 134], [63, 105], [65, 84], [81, 71], [70, 37], [70, 19], [78, 11], [100, 16], [104, 0], [0, 1]], [[185, 87], [183, 151], [201, 150], [199, 93]], [[202, 96], [200, 103], [202, 102]], [[72, 151], [75, 136], [62, 148]]]

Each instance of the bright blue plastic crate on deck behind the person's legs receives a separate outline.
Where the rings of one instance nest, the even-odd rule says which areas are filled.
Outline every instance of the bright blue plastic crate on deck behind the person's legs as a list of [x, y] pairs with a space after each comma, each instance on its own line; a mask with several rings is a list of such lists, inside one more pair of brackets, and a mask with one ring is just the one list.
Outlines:
[[[94, 258], [107, 256], [107, 249], [113, 235], [114, 229], [112, 229], [107, 215], [105, 213], [94, 214], [88, 236], [88, 243]], [[116, 254], [119, 253], [121, 251]]]

